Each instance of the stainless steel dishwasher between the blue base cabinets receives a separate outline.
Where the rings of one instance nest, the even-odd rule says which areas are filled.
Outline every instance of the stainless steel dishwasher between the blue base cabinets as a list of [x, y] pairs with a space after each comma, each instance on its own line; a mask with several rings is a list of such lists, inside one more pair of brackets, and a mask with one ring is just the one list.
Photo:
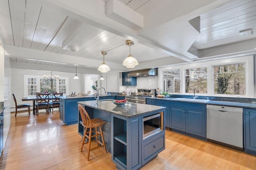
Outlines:
[[206, 105], [206, 137], [208, 141], [243, 150], [243, 109]]

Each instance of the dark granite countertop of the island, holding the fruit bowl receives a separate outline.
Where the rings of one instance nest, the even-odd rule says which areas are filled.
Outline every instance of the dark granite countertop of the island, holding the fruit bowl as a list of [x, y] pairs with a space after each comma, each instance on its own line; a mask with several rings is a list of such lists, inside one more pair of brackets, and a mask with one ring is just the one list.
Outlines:
[[147, 113], [152, 113], [154, 111], [160, 111], [165, 109], [166, 107], [161, 106], [153, 106], [153, 105], [146, 105], [146, 104], [138, 104], [133, 102], [127, 102], [122, 107], [117, 107], [112, 101], [105, 100], [97, 102], [96, 100], [92, 101], [85, 101], [85, 102], [78, 102], [82, 106], [89, 106], [95, 109], [107, 111], [116, 115], [120, 115], [123, 117], [136, 117], [139, 115], [144, 115]]

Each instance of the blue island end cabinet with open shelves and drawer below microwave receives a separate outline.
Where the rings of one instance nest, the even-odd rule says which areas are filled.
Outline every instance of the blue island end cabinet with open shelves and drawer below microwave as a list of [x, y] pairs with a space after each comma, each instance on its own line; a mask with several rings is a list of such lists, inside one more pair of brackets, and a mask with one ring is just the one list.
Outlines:
[[[150, 116], [154, 113], [149, 113]], [[137, 170], [165, 149], [165, 129], [143, 139], [143, 115], [112, 115], [112, 161], [118, 170]]]

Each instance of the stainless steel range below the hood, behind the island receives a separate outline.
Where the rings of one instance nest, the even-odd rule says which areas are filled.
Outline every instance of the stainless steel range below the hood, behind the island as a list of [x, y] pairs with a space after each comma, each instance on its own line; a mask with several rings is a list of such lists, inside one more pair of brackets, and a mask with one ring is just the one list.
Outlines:
[[128, 102], [146, 104], [146, 98], [155, 96], [156, 89], [135, 89], [135, 93], [125, 96]]

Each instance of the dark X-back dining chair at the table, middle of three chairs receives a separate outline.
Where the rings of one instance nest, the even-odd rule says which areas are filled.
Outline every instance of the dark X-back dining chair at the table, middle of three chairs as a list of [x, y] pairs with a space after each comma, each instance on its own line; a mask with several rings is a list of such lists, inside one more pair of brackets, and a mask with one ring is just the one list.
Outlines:
[[36, 93], [36, 113], [39, 109], [46, 109], [46, 113], [49, 113], [49, 93]]

